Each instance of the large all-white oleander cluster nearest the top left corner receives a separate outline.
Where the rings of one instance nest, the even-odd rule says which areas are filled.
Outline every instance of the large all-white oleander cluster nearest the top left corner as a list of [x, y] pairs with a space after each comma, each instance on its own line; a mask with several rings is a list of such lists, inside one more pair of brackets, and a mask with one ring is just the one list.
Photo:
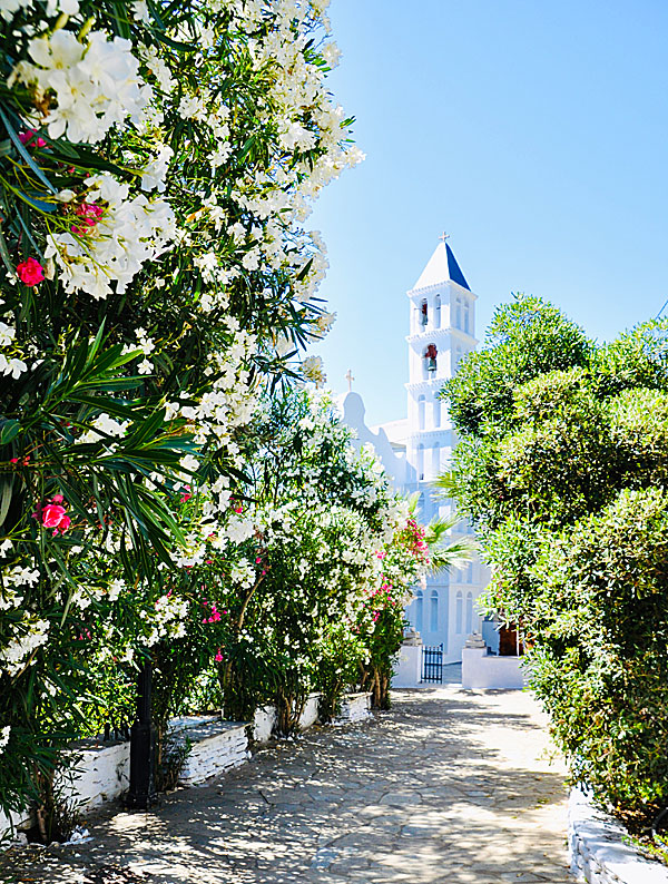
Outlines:
[[109, 40], [104, 31], [80, 42], [72, 31], [59, 29], [30, 41], [35, 63], [19, 62], [11, 80], [36, 89], [50, 138], [97, 144], [128, 117], [138, 124], [151, 101], [131, 49], [129, 40]]

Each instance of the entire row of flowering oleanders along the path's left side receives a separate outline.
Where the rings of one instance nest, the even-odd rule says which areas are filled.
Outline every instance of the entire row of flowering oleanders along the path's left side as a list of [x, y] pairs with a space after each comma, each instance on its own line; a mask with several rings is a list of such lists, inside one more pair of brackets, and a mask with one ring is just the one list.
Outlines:
[[312, 389], [306, 222], [362, 158], [326, 6], [0, 0], [0, 809], [47, 842], [139, 667], [165, 769], [184, 711], [386, 704], [443, 558]]

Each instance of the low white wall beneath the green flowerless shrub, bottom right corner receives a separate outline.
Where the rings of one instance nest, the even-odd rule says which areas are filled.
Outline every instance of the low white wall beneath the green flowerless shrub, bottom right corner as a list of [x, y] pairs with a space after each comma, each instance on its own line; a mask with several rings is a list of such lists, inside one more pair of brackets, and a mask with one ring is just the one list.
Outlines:
[[568, 806], [571, 874], [587, 884], [668, 884], [668, 868], [628, 843], [626, 828], [573, 789]]

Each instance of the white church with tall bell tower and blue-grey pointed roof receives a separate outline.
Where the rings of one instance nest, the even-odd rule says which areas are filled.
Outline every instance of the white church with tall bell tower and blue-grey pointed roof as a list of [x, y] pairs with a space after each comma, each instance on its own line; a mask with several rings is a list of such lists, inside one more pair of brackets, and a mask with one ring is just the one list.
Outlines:
[[[344, 420], [357, 431], [360, 444], [373, 443], [396, 488], [419, 493], [420, 515], [428, 522], [434, 515], [452, 514], [454, 505], [452, 501], [439, 500], [432, 488], [436, 475], [449, 468], [456, 444], [448, 404], [439, 399], [439, 391], [478, 343], [477, 296], [445, 236], [406, 294], [410, 305], [407, 418], [367, 428], [364, 404], [357, 393], [348, 393], [342, 405]], [[456, 526], [453, 533], [456, 532], [472, 533], [465, 519]], [[406, 617], [425, 645], [443, 646], [444, 662], [461, 660], [466, 637], [483, 631], [475, 602], [488, 580], [488, 569], [475, 559], [464, 568], [430, 577], [426, 586], [414, 589]], [[494, 637], [492, 628], [492, 642]]]

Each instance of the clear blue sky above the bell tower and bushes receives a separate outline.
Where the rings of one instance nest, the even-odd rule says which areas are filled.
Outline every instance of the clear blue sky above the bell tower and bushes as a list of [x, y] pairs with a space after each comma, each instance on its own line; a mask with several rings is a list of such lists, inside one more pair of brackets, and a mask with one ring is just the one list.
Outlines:
[[337, 322], [313, 348], [373, 424], [405, 415], [405, 291], [445, 229], [478, 336], [511, 292], [610, 340], [668, 298], [668, 3], [332, 0], [366, 160], [310, 225]]

